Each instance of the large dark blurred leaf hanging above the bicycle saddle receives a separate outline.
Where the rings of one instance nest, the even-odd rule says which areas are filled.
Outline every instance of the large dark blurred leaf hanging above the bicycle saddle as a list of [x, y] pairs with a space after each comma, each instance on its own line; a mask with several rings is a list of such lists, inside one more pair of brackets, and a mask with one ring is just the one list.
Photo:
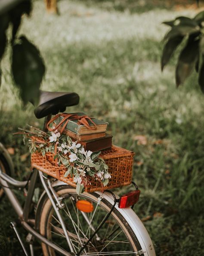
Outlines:
[[24, 104], [29, 100], [36, 100], [45, 74], [45, 65], [38, 49], [24, 36], [19, 43], [13, 45], [12, 74]]

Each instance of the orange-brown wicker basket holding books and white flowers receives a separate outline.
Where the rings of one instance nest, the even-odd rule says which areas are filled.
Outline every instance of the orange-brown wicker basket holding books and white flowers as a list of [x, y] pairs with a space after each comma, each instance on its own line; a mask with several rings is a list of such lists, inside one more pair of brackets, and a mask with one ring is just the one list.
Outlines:
[[[99, 157], [105, 160], [105, 163], [108, 165], [108, 173], [111, 174], [108, 185], [102, 187], [101, 183], [93, 178], [91, 179], [92, 185], [87, 186], [85, 191], [102, 191], [129, 185], [132, 181], [133, 155], [134, 152], [117, 146], [112, 146], [111, 149], [103, 150]], [[45, 157], [43, 157], [41, 153], [32, 154], [31, 165], [43, 173], [76, 187], [71, 176], [64, 177], [66, 168], [62, 165], [56, 166], [53, 153], [46, 153]]]

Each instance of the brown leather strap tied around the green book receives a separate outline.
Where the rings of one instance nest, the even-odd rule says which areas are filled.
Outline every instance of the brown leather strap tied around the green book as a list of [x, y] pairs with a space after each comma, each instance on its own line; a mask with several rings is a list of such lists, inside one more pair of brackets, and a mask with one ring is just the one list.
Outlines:
[[[55, 128], [50, 128], [49, 125], [51, 123], [53, 123], [57, 118], [59, 118], [60, 116], [62, 116], [62, 120], [59, 122], [58, 125], [55, 126]], [[77, 124], [78, 125], [84, 125], [86, 126], [88, 129], [94, 130], [96, 129], [96, 124], [93, 122], [92, 118], [89, 117], [88, 115], [77, 115], [77, 114], [66, 114], [66, 113], [61, 113], [58, 115], [55, 115], [52, 119], [49, 120], [49, 122], [47, 123], [47, 129], [49, 131], [56, 131], [60, 126], [62, 126], [62, 124], [64, 123], [64, 125], [62, 126], [60, 132], [62, 133], [65, 129], [65, 127], [67, 126], [69, 120], [78, 120]], [[92, 126], [89, 125], [88, 120], [90, 122], [92, 122]]]

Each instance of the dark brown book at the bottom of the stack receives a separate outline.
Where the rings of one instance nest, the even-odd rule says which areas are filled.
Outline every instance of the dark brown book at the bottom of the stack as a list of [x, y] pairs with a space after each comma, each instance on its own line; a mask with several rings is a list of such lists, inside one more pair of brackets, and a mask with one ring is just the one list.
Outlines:
[[100, 151], [112, 146], [112, 135], [105, 134], [104, 138], [98, 138], [91, 141], [80, 141], [85, 150]]

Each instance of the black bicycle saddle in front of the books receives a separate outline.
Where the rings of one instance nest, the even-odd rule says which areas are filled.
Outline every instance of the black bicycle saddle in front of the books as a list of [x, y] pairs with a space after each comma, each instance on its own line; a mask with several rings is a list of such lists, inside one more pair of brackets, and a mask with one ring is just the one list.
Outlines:
[[[34, 102], [31, 102], [34, 105]], [[34, 114], [37, 118], [43, 118], [47, 115], [56, 115], [64, 112], [66, 107], [75, 106], [79, 103], [77, 93], [65, 92], [46, 92], [40, 90], [38, 105], [35, 106]]]

